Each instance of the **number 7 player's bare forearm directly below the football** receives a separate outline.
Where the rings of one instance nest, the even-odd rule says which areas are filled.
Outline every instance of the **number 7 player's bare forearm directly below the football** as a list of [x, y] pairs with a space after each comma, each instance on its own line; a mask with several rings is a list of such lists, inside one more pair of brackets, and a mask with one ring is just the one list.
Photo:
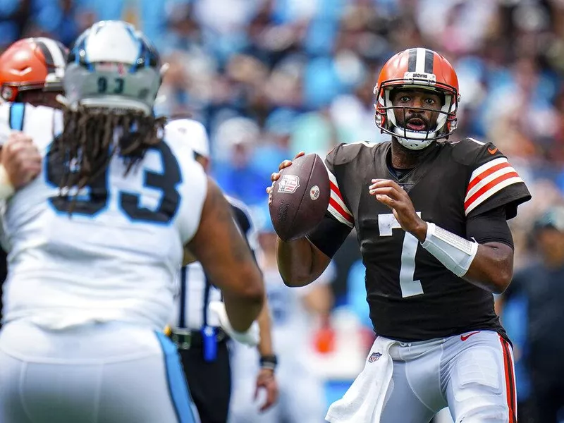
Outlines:
[[316, 255], [307, 238], [294, 241], [276, 240], [278, 271], [287, 286], [305, 286], [319, 277]]

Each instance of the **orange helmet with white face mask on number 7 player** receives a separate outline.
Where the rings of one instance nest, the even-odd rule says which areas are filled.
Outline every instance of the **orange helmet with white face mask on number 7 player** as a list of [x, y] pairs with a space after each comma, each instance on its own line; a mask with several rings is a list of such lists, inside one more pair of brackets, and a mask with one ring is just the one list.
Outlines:
[[[416, 131], [398, 124], [394, 109], [405, 111], [407, 108], [393, 106], [390, 93], [399, 87], [432, 90], [444, 96], [443, 106], [436, 109], [439, 117], [435, 128]], [[384, 64], [374, 94], [376, 126], [381, 132], [396, 137], [400, 144], [409, 149], [423, 149], [434, 140], [448, 138], [456, 129], [456, 112], [460, 101], [458, 78], [453, 66], [436, 51], [422, 48], [400, 51]]]

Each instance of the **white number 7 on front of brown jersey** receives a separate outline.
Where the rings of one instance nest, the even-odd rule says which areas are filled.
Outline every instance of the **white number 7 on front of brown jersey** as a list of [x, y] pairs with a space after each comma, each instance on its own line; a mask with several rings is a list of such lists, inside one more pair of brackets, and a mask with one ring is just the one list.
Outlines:
[[[421, 212], [417, 212], [417, 216], [421, 217]], [[401, 229], [400, 223], [396, 217], [390, 214], [378, 215], [378, 228], [380, 236], [391, 236], [393, 229]], [[400, 289], [403, 298], [421, 295], [423, 287], [421, 281], [414, 281], [415, 275], [415, 253], [417, 252], [417, 244], [419, 240], [411, 233], [405, 232], [403, 245], [401, 249], [401, 266], [400, 266]]]

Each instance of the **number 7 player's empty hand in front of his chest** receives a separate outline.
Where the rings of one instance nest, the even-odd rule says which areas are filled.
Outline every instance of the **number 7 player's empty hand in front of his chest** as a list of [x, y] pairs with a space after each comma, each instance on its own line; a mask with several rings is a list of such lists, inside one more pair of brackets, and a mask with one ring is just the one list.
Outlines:
[[372, 179], [371, 182], [370, 195], [374, 195], [376, 200], [392, 209], [393, 216], [404, 231], [412, 233], [423, 242], [427, 236], [427, 223], [415, 212], [407, 192], [393, 180]]

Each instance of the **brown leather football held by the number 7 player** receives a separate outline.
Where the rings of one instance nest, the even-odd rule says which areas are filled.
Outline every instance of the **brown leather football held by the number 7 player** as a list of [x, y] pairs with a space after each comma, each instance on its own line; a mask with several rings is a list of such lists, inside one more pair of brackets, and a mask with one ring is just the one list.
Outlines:
[[323, 160], [306, 154], [280, 171], [272, 185], [269, 212], [274, 231], [283, 241], [312, 231], [327, 210], [331, 188]]

